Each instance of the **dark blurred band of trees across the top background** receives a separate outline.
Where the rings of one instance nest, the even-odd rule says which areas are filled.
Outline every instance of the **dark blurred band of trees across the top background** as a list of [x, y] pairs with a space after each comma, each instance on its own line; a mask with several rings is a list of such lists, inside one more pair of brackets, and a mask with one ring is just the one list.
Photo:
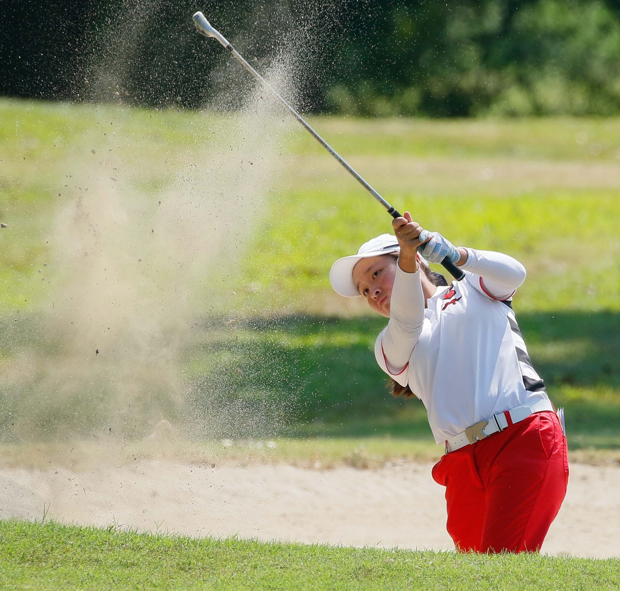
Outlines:
[[304, 110], [620, 112], [620, 0], [9, 2], [0, 94], [205, 106], [228, 55], [195, 33], [197, 9], [259, 64], [289, 56]]

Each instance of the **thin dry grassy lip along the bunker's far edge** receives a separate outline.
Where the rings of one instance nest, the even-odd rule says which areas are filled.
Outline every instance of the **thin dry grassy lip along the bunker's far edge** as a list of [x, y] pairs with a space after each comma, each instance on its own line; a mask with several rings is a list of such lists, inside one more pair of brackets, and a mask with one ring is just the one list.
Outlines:
[[[115, 465], [169, 460], [198, 466], [288, 464], [304, 469], [326, 470], [339, 466], [375, 469], [403, 460], [435, 463], [443, 455], [443, 447], [428, 438], [340, 436], [196, 440], [166, 435], [169, 433], [161, 433], [159, 438], [150, 438], [146, 442], [123, 444], [112, 439], [106, 442], [105, 450], [97, 442], [88, 440], [2, 445], [0, 463], [9, 468], [28, 466], [30, 469], [46, 470], [51, 464], [71, 471], [88, 471], [93, 458], [99, 458], [103, 463]], [[615, 450], [598, 458], [583, 457], [587, 463], [610, 463], [616, 459], [618, 453]]]

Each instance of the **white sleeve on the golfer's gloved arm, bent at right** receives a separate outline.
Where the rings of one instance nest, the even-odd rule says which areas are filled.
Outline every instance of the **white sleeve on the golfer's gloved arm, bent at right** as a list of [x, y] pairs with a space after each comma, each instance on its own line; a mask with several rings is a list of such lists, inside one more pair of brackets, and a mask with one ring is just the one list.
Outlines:
[[472, 273], [474, 277], [468, 277], [469, 282], [492, 300], [510, 300], [525, 281], [525, 267], [513, 257], [502, 252], [476, 251], [472, 248], [466, 251], [467, 261], [461, 269]]

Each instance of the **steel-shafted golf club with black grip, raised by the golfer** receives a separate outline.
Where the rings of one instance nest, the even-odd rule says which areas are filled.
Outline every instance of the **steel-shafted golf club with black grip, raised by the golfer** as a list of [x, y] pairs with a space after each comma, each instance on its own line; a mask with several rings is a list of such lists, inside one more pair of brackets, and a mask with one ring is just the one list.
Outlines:
[[[232, 55], [234, 56], [234, 58], [236, 58], [236, 60], [250, 73], [252, 74], [252, 76], [254, 76], [255, 79], [257, 79], [263, 86], [265, 86], [266, 88], [268, 88], [275, 97], [277, 97], [280, 102], [286, 107], [286, 109], [288, 109], [288, 111], [291, 113], [291, 115], [293, 115], [294, 118], [296, 118], [296, 120], [298, 120], [299, 123], [301, 123], [301, 125], [303, 125], [306, 130], [308, 130], [312, 136], [314, 136], [314, 138], [330, 153], [332, 154], [332, 156], [334, 156], [334, 158], [340, 162], [340, 164], [342, 164], [343, 167], [345, 167], [345, 169], [347, 169], [348, 172], [350, 172], [350, 174], [352, 174], [352, 176], [358, 180], [358, 182], [360, 182], [360, 184], [379, 202], [381, 203], [381, 205], [383, 205], [384, 208], [386, 208], [387, 213], [389, 213], [389, 215], [392, 216], [392, 218], [399, 218], [401, 217], [401, 214], [394, 209], [394, 207], [392, 207], [389, 203], [387, 203], [387, 201], [381, 197], [381, 195], [379, 195], [378, 192], [376, 192], [376, 190], [373, 189], [373, 187], [371, 187], [371, 185], [369, 185], [361, 176], [360, 174], [358, 174], [351, 166], [350, 164], [348, 164], [347, 161], [345, 161], [344, 158], [342, 158], [342, 156], [340, 156], [339, 153], [337, 153], [337, 151], [335, 151], [334, 148], [332, 148], [332, 146], [330, 146], [316, 131], [314, 131], [314, 129], [312, 129], [312, 127], [309, 125], [308, 122], [306, 122], [306, 120], [301, 117], [301, 115], [299, 115], [299, 113], [293, 109], [293, 107], [291, 107], [290, 104], [288, 104], [288, 102], [286, 102], [285, 99], [283, 99], [283, 97], [281, 97], [280, 93], [273, 88], [254, 68], [252, 68], [252, 66], [250, 66], [249, 63], [247, 63], [246, 60], [244, 60], [243, 56], [234, 48], [232, 47], [231, 43], [228, 42], [228, 40], [226, 40], [226, 37], [224, 37], [224, 35], [222, 35], [218, 30], [214, 29], [213, 27], [211, 27], [211, 24], [208, 20], [206, 20], [205, 15], [202, 14], [202, 12], [198, 11], [194, 14], [193, 18], [193, 22], [196, 25], [196, 28], [198, 29], [198, 31], [200, 33], [202, 33], [203, 35], [205, 35], [205, 37], [213, 37], [214, 39], [217, 39], [223, 46], [224, 48], [226, 48], [228, 51], [230, 51], [232, 53]], [[446, 271], [448, 271], [456, 280], [460, 281], [461, 279], [463, 279], [463, 277], [465, 277], [465, 273], [459, 269], [451, 260], [448, 259], [444, 259], [441, 262], [441, 265], [444, 267], [444, 269], [446, 269]]]

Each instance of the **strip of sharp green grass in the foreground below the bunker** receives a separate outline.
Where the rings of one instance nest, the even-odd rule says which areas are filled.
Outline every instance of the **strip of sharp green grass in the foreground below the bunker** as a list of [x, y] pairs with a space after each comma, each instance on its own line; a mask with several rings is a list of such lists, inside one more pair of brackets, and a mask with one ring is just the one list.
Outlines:
[[2, 589], [618, 589], [620, 561], [198, 540], [0, 522]]

